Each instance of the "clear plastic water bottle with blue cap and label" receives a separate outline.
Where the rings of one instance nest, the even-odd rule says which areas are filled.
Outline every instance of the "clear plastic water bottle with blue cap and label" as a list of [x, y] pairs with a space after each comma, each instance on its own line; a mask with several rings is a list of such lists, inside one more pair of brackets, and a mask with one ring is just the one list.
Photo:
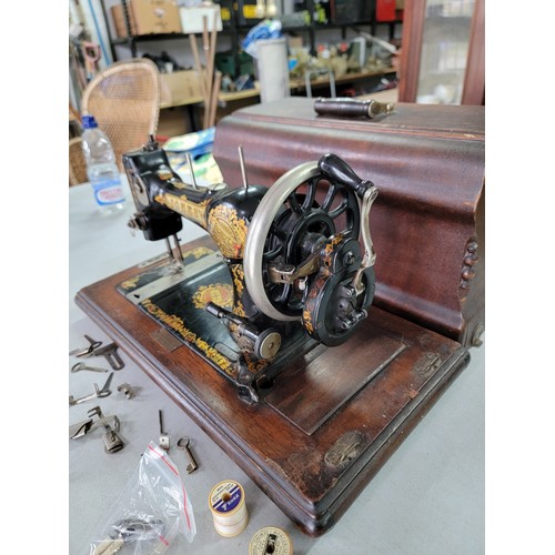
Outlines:
[[110, 139], [99, 128], [94, 115], [83, 115], [82, 124], [87, 175], [97, 204], [104, 214], [119, 212], [123, 209], [125, 196]]

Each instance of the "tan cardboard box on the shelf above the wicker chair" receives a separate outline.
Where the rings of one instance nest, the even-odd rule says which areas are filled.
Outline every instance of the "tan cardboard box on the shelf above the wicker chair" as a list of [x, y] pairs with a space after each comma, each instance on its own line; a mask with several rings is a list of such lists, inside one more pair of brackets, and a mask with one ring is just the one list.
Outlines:
[[[110, 10], [117, 36], [127, 37], [122, 6], [114, 6]], [[181, 32], [176, 0], [128, 0], [128, 12], [133, 34]]]

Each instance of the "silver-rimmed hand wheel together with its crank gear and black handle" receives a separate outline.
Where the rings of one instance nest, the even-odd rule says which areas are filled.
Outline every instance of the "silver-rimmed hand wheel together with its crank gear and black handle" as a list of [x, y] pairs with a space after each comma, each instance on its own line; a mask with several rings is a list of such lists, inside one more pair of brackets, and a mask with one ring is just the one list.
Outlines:
[[246, 235], [245, 284], [266, 316], [301, 321], [313, 337], [339, 345], [374, 294], [373, 260], [366, 264], [359, 243], [371, 203], [364, 210], [356, 194], [359, 183], [370, 182], [336, 157], [345, 172], [325, 172], [321, 162], [293, 168], [262, 198]]

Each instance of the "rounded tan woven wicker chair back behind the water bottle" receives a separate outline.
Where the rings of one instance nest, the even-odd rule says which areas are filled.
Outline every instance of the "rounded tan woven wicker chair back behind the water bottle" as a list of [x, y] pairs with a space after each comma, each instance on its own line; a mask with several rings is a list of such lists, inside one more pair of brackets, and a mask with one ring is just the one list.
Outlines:
[[155, 63], [145, 58], [113, 63], [87, 85], [81, 111], [94, 115], [123, 171], [121, 157], [157, 134], [160, 73]]

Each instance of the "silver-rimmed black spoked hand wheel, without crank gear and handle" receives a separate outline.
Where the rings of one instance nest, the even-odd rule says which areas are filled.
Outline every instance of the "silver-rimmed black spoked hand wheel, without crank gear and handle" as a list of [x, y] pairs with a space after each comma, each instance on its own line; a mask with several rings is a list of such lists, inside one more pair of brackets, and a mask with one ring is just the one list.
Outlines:
[[[356, 193], [325, 176], [319, 162], [306, 162], [282, 175], [262, 198], [246, 235], [245, 283], [254, 303], [274, 320], [301, 319], [311, 256], [333, 235], [357, 240], [360, 226]], [[280, 281], [272, 273], [275, 268], [303, 266], [309, 270], [293, 281]]]

